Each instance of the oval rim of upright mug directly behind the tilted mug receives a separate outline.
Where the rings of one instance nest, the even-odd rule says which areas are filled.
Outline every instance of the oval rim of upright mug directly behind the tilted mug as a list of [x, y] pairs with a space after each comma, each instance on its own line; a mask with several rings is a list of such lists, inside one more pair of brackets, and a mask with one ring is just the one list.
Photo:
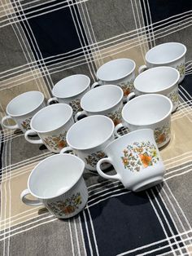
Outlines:
[[159, 95], [159, 94], [153, 93], [153, 94], [139, 95], [139, 96], [137, 96], [136, 98], [131, 99], [128, 103], [126, 103], [126, 104], [124, 105], [124, 108], [122, 109], [122, 117], [123, 117], [123, 120], [124, 120], [125, 122], [127, 122], [127, 123], [128, 123], [129, 125], [131, 125], [131, 126], [138, 126], [137, 124], [133, 124], [133, 123], [131, 123], [131, 122], [125, 120], [125, 118], [124, 118], [124, 109], [125, 109], [133, 100], [138, 100], [140, 97], [149, 97], [149, 96], [157, 96], [157, 97], [161, 97], [161, 98], [166, 99], [166, 100], [169, 102], [169, 104], [170, 104], [170, 109], [169, 109], [168, 113], [167, 113], [164, 117], [162, 117], [161, 119], [159, 119], [158, 121], [151, 122], [151, 123], [148, 123], [148, 124], [146, 124], [146, 125], [141, 125], [141, 126], [151, 126], [151, 125], [155, 125], [155, 124], [159, 123], [159, 121], [163, 121], [163, 120], [166, 119], [169, 115], [171, 115], [171, 113], [172, 113], [172, 108], [173, 108], [173, 104], [172, 104], [171, 99], [169, 99], [169, 98], [168, 98], [167, 96], [165, 96], [165, 95]]

